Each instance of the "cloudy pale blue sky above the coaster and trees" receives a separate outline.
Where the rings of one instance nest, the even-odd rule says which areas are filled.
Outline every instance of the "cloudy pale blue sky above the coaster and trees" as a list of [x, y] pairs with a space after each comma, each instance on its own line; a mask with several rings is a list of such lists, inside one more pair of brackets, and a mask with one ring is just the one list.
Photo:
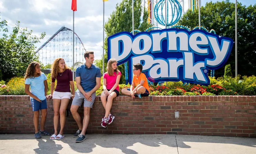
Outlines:
[[[109, 0], [104, 2], [104, 20], [107, 22], [110, 14], [122, 0]], [[216, 2], [217, 0], [212, 0]], [[220, 0], [219, 0], [220, 1]], [[230, 0], [235, 3], [235, 0]], [[243, 5], [254, 5], [255, 0], [237, 0]], [[73, 29], [72, 0], [1, 0], [0, 18], [8, 23], [9, 31], [20, 21], [21, 27], [33, 30], [33, 35], [40, 36], [46, 32], [39, 48], [62, 26]], [[144, 0], [142, 0], [142, 3]], [[201, 0], [205, 6], [210, 0]], [[184, 10], [188, 8], [188, 0], [184, 0]], [[75, 32], [81, 38], [86, 50], [94, 51], [95, 59], [100, 59], [103, 44], [103, 1], [102, 0], [77, 0], [75, 11]], [[1, 36], [0, 36], [1, 37]]]

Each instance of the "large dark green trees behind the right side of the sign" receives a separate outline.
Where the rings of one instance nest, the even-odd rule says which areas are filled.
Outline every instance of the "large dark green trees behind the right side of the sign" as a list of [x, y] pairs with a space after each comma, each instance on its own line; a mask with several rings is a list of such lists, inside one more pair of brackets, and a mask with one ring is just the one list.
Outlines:
[[[242, 76], [256, 74], [256, 5], [242, 6], [237, 4], [237, 69]], [[178, 22], [190, 29], [198, 26], [198, 10], [188, 10]], [[206, 3], [201, 7], [201, 25], [214, 29], [219, 36], [232, 38], [235, 41], [235, 4], [229, 0]], [[227, 61], [235, 74], [235, 42]], [[215, 71], [215, 76], [223, 76], [224, 67]]]

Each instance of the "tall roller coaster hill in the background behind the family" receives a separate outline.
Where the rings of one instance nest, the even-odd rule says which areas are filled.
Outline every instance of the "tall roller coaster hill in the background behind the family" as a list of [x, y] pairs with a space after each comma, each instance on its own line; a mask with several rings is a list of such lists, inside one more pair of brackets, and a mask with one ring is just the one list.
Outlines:
[[[74, 33], [74, 65], [85, 63], [84, 52], [86, 49], [76, 33]], [[67, 66], [72, 67], [72, 35], [73, 31], [67, 27], [61, 27], [51, 38], [36, 50], [39, 61], [45, 65], [52, 64], [56, 58], [64, 58]]]

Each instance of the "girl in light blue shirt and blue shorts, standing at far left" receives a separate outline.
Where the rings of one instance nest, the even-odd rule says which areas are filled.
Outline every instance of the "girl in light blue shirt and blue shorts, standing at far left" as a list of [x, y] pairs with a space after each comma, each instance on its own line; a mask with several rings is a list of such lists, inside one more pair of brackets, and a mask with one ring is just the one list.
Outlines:
[[[32, 110], [34, 111], [35, 137], [51, 135], [44, 130], [44, 123], [47, 116], [46, 92], [48, 89], [46, 76], [41, 73], [40, 64], [33, 61], [29, 64], [25, 73], [25, 93], [30, 96]], [[29, 91], [30, 86], [30, 91]], [[39, 110], [41, 110], [41, 128], [38, 130]]]

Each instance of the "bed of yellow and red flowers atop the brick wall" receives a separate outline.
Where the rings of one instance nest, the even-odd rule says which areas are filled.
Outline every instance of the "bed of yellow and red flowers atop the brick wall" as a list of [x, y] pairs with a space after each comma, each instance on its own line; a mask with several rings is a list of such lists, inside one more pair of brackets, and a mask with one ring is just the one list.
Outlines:
[[[48, 92], [50, 93], [51, 77], [47, 75]], [[74, 82], [75, 84], [75, 82]], [[55, 82], [56, 85], [56, 82]], [[24, 92], [24, 78], [14, 77], [8, 83], [0, 81], [0, 95], [26, 95]], [[130, 85], [120, 84], [119, 88], [129, 88]], [[75, 90], [77, 89], [75, 84]], [[100, 96], [102, 93], [102, 86], [96, 91], [96, 95]], [[256, 95], [256, 77], [255, 76], [238, 76], [210, 78], [209, 86], [200, 86], [189, 84], [184, 86], [181, 81], [167, 82], [167, 86], [149, 86], [151, 96], [215, 96], [215, 95]], [[120, 95], [122, 95], [120, 93]]]

